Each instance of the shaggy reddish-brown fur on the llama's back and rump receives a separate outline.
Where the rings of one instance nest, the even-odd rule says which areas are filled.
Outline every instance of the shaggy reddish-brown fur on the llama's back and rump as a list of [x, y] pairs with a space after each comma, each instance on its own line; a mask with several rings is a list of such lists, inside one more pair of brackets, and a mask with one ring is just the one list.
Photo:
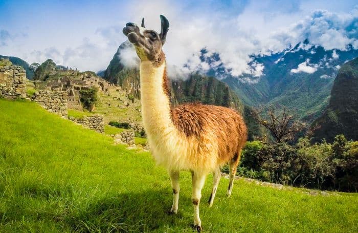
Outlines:
[[[171, 110], [173, 124], [187, 137], [195, 137], [200, 152], [210, 153], [210, 145], [217, 145], [217, 164], [239, 156], [247, 140], [247, 127], [236, 111], [215, 105], [187, 103]], [[208, 147], [209, 146], [209, 147]]]

